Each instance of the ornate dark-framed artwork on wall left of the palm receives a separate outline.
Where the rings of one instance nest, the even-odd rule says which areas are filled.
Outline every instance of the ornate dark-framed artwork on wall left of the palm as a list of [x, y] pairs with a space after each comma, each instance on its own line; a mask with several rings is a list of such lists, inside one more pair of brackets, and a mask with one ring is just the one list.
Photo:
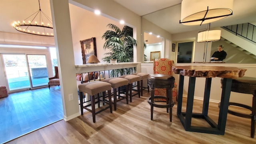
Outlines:
[[82, 48], [83, 64], [86, 64], [91, 55], [97, 56], [96, 52], [96, 38], [89, 38], [86, 40], [80, 40]]

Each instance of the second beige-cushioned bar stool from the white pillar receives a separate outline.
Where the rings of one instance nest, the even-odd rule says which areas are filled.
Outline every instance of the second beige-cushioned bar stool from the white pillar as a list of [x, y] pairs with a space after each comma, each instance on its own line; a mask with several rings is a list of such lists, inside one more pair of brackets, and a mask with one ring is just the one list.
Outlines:
[[[111, 87], [114, 90], [114, 110], [116, 110], [116, 102], [119, 102], [120, 100], [126, 99], [126, 104], [128, 104], [128, 80], [126, 80], [125, 78], [107, 78], [105, 80], [102, 80], [103, 82], [108, 82], [111, 84]], [[120, 90], [118, 93], [118, 97], [120, 99], [117, 100], [116, 96], [117, 96], [117, 88], [119, 88], [120, 86], [125, 86], [126, 89], [126, 96], [120, 96]], [[103, 97], [104, 98], [104, 97]]]

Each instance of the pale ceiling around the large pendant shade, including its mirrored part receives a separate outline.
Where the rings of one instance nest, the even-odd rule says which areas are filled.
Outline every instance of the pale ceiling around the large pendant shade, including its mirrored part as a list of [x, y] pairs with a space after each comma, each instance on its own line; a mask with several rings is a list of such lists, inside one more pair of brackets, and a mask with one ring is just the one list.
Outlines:
[[[206, 29], [206, 24], [203, 24], [201, 26], [185, 26], [179, 23], [182, 0], [114, 1], [125, 6], [134, 13], [143, 16], [143, 18], [156, 24], [157, 26], [168, 31], [171, 34]], [[221, 3], [222, 0], [215, 1]], [[233, 15], [228, 16], [222, 20], [212, 22], [210, 24], [210, 27], [214, 28], [221, 26], [230, 26], [233, 24], [242, 24], [247, 22], [256, 22], [256, 0], [234, 0]]]

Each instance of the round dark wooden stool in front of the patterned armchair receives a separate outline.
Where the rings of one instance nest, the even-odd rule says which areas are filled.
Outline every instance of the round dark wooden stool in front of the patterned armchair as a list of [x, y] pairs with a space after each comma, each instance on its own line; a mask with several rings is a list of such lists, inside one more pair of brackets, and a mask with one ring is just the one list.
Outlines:
[[[167, 113], [170, 108], [170, 122], [172, 122], [172, 107], [174, 102], [172, 101], [172, 88], [174, 87], [175, 78], [169, 74], [150, 74], [148, 76], [148, 86], [151, 88], [151, 97], [148, 98], [148, 104], [151, 108], [151, 120], [153, 120], [153, 110], [154, 106], [158, 108], [166, 108]], [[154, 96], [154, 88], [166, 88], [166, 97], [165, 96]], [[158, 102], [166, 102], [166, 104], [155, 103], [154, 99], [164, 99], [158, 100]]]

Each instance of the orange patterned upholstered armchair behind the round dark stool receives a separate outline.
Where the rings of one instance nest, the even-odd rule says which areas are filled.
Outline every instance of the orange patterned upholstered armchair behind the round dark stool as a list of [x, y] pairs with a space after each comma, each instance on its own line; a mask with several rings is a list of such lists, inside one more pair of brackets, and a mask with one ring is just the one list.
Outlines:
[[[172, 64], [173, 60], [168, 58], [160, 58], [159, 60], [154, 60], [153, 63], [153, 74], [170, 74], [172, 75]], [[158, 96], [166, 96], [166, 89], [164, 88], [155, 88], [155, 94]], [[176, 103], [177, 98], [177, 84], [174, 83], [174, 88], [172, 89], [172, 100]]]

